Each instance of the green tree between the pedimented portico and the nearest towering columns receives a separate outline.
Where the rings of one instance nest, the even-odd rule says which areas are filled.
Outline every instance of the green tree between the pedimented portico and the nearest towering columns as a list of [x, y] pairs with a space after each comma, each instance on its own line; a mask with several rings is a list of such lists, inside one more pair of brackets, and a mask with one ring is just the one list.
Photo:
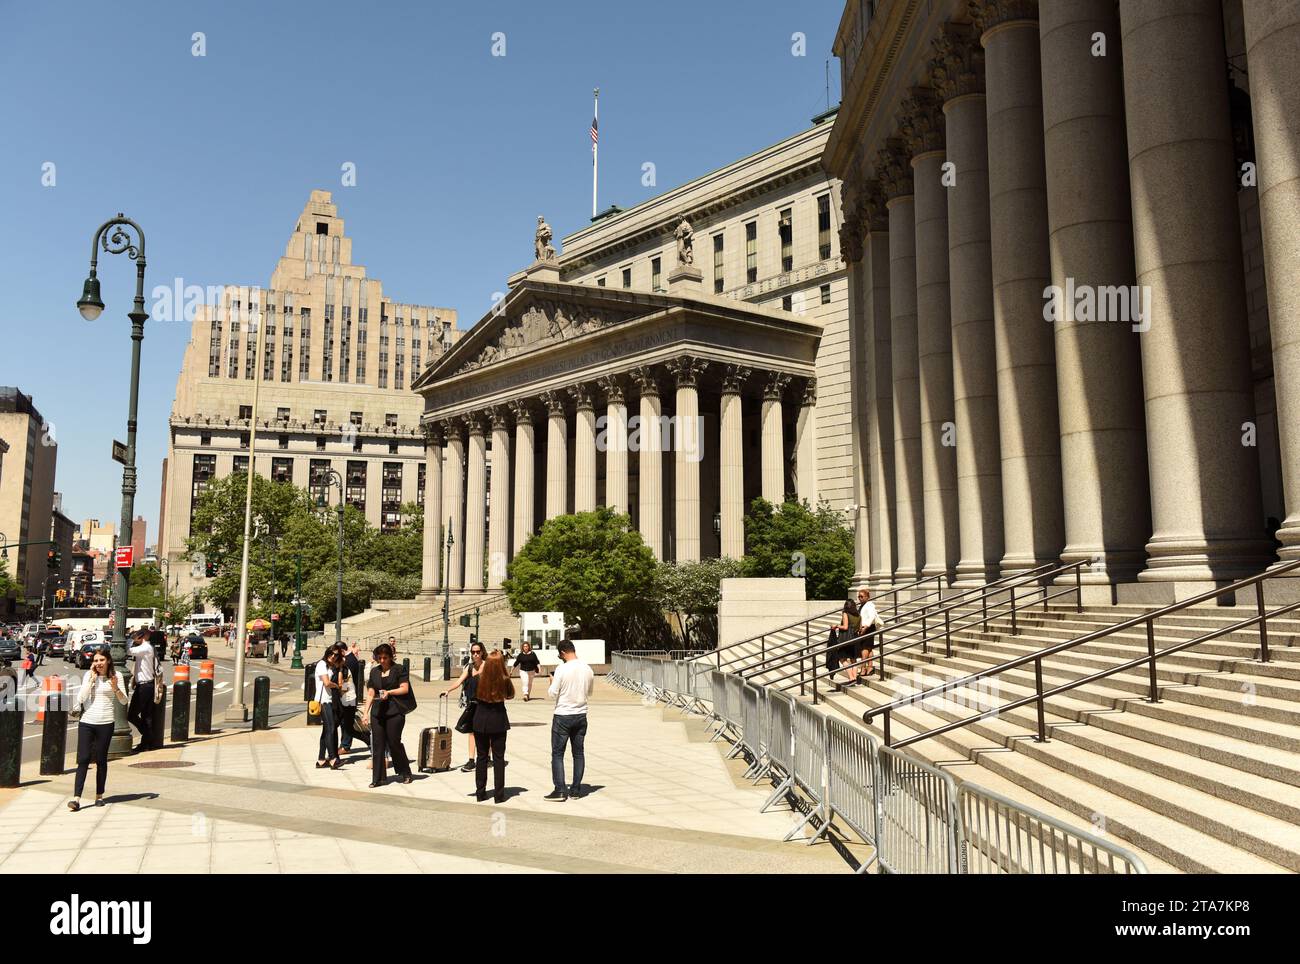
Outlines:
[[745, 559], [749, 577], [802, 577], [809, 599], [844, 599], [853, 581], [853, 530], [827, 503], [780, 508], [755, 499], [745, 516]]

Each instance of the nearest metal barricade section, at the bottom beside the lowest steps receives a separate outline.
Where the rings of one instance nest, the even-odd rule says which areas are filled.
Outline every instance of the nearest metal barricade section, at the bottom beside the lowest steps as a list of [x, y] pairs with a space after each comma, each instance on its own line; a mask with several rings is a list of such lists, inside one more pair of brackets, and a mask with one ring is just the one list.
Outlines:
[[1130, 850], [974, 783], [957, 791], [961, 873], [1147, 873]]

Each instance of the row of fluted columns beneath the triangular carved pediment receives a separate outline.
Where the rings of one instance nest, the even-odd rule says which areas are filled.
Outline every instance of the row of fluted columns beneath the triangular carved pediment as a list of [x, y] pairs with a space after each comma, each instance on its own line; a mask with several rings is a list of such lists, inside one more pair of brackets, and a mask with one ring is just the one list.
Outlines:
[[[762, 494], [780, 504], [785, 499], [785, 433], [783, 396], [792, 375], [784, 372], [755, 373], [734, 364], [710, 362], [690, 355], [671, 359], [662, 366], [641, 366], [611, 374], [594, 383], [564, 390], [549, 390], [536, 399], [516, 399], [450, 420], [425, 424], [425, 527], [424, 587], [432, 594], [442, 587], [446, 522], [452, 520], [452, 552], [446, 578], [460, 591], [497, 590], [506, 577], [506, 563], [533, 535], [534, 456], [537, 408], [546, 412], [546, 520], [567, 513], [569, 491], [568, 404], [575, 409], [573, 433], [573, 512], [589, 512], [598, 500], [598, 451], [604, 451], [603, 504], [629, 509], [629, 452], [636, 448], [638, 463], [638, 529], [656, 559], [664, 557], [663, 459], [664, 442], [673, 459], [672, 520], [676, 535], [676, 561], [701, 557], [701, 464], [706, 439], [701, 435], [699, 379], [716, 365], [720, 386], [719, 405], [719, 517], [722, 553], [738, 559], [745, 551], [745, 478], [742, 388], [759, 381], [760, 476]], [[671, 377], [675, 390], [675, 420], [671, 438], [663, 426], [660, 382]], [[815, 473], [812, 407], [815, 381], [802, 378], [803, 392], [797, 422], [796, 452], [800, 498], [815, 499], [810, 486]], [[640, 403], [640, 427], [629, 435], [628, 388], [634, 387]], [[597, 431], [595, 398], [604, 395], [603, 431]], [[489, 491], [488, 437], [491, 438], [491, 482]], [[511, 431], [514, 424], [514, 431]], [[467, 446], [468, 439], [468, 446]], [[634, 439], [636, 444], [629, 442]], [[603, 444], [602, 444], [603, 443]], [[464, 518], [464, 531], [459, 520]], [[511, 518], [514, 525], [511, 526]], [[486, 544], [484, 531], [486, 529]], [[485, 556], [486, 552], [486, 556]], [[486, 565], [485, 565], [486, 564]]]

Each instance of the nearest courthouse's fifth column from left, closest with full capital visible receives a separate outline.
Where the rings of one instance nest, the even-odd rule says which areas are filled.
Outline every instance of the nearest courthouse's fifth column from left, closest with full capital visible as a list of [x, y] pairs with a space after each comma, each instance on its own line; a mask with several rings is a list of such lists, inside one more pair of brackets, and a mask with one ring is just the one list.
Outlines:
[[948, 186], [948, 270], [957, 425], [956, 586], [996, 579], [1002, 561], [1002, 457], [997, 425], [993, 265], [988, 225], [988, 131], [984, 48], [974, 31], [945, 23], [931, 79], [944, 99], [953, 183]]

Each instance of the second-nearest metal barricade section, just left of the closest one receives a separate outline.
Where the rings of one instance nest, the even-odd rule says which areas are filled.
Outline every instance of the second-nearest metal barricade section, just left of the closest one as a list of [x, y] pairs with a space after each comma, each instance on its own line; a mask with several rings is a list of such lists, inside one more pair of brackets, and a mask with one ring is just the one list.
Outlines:
[[889, 747], [878, 747], [876, 754], [880, 869], [958, 873], [961, 818], [953, 778]]

